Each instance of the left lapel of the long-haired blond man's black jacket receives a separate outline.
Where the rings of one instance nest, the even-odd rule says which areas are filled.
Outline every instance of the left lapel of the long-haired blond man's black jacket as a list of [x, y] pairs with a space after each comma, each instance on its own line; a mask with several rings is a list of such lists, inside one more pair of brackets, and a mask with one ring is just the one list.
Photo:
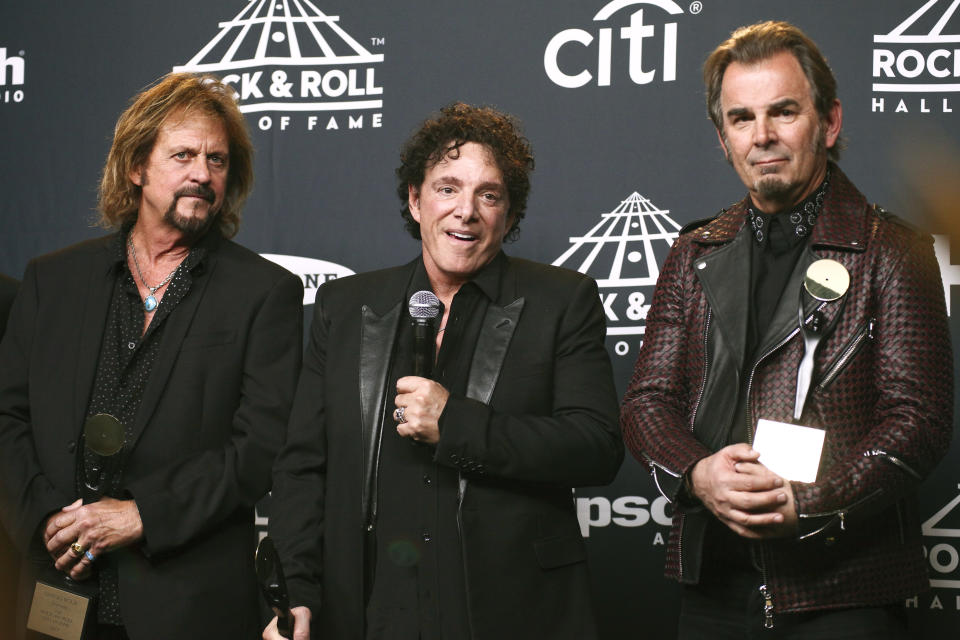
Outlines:
[[[103, 343], [110, 296], [113, 294], [114, 272], [110, 269], [110, 247], [114, 236], [105, 239], [95, 251], [93, 266], [89, 271], [83, 297], [83, 312], [80, 320], [80, 335], [77, 341], [77, 362], [73, 387], [73, 421], [75, 429], [71, 437], [80, 434], [86, 419], [93, 379], [100, 361], [100, 346]], [[72, 429], [74, 427], [71, 427]]]

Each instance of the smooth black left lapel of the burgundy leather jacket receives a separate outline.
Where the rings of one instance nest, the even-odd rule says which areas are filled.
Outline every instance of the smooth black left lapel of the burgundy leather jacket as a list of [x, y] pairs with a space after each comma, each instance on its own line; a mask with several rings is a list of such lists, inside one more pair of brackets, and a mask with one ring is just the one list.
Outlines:
[[747, 314], [750, 299], [749, 233], [738, 233], [733, 241], [694, 260], [694, 271], [713, 311], [726, 351], [736, 359], [736, 370], [743, 370], [747, 344]]

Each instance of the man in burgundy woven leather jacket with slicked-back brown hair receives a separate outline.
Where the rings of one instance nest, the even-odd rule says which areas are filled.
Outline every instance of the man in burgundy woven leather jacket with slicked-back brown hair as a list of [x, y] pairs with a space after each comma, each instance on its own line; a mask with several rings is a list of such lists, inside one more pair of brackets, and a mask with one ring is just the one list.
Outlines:
[[[799, 29], [738, 29], [704, 80], [748, 195], [671, 250], [621, 412], [676, 507], [680, 637], [905, 637], [929, 586], [914, 492], [953, 416], [931, 238], [834, 164], [836, 81]], [[849, 286], [818, 290], [824, 265]], [[763, 419], [824, 430], [815, 480], [758, 462]]]

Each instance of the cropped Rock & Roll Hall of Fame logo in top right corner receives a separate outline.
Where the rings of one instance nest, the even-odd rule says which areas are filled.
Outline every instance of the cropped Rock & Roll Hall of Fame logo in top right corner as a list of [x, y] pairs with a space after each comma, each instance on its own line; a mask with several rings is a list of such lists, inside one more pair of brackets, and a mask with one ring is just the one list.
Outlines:
[[874, 112], [960, 108], [952, 95], [960, 92], [960, 19], [953, 20], [958, 6], [956, 0], [929, 0], [890, 33], [873, 36]]

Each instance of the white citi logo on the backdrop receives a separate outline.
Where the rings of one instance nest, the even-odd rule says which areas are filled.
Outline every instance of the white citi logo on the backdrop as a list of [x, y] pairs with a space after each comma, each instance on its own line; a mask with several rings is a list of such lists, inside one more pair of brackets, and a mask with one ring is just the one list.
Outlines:
[[[593, 19], [595, 22], [606, 22], [621, 9], [633, 5], [641, 5], [641, 8], [630, 14], [629, 22], [618, 30], [602, 26], [596, 29], [594, 36], [584, 29], [564, 29], [553, 36], [543, 52], [543, 68], [547, 77], [554, 84], [568, 89], [583, 87], [594, 78], [597, 86], [610, 86], [616, 32], [621, 40], [628, 43], [627, 70], [631, 81], [650, 84], [657, 78], [658, 72], [663, 82], [676, 80], [677, 23], [662, 25], [658, 33], [657, 26], [647, 22], [649, 15], [644, 15], [643, 6], [656, 7], [670, 15], [677, 15], [683, 13], [677, 3], [672, 0], [612, 0]], [[700, 6], [697, 2], [694, 5]], [[650, 58], [657, 53], [662, 55], [651, 65]]]

